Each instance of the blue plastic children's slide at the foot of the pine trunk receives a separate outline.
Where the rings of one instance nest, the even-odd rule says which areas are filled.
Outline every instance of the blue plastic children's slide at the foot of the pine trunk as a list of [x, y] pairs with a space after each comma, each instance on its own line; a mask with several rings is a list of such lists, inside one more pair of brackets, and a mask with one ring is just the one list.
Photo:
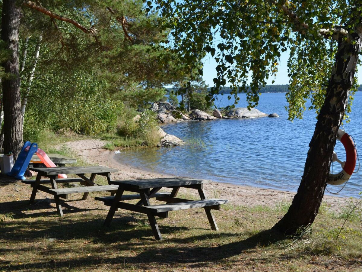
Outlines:
[[18, 180], [26, 180], [24, 177], [26, 168], [28, 168], [31, 157], [38, 150], [37, 143], [30, 143], [29, 141], [25, 142], [23, 145], [18, 158], [15, 161], [13, 169], [11, 169], [9, 176], [15, 177]]

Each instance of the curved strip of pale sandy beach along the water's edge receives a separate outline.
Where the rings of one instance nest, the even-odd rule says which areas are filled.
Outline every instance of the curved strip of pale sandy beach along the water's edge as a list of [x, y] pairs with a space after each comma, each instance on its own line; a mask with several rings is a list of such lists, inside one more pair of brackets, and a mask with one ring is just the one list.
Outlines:
[[[105, 143], [106, 141], [89, 139], [68, 142], [66, 145], [89, 163], [119, 169], [120, 171], [118, 173], [111, 174], [113, 180], [174, 177], [173, 175], [157, 173], [121, 163], [115, 159], [115, 153], [113, 151], [103, 148]], [[265, 205], [275, 207], [282, 201], [291, 202], [296, 194], [296, 192], [293, 191], [235, 185], [226, 182], [211, 182], [210, 184], [205, 184], [205, 190], [209, 198], [225, 198], [233, 205], [244, 206]], [[185, 191], [184, 193], [190, 192]], [[323, 201], [327, 203], [327, 205], [330, 205], [329, 209], [331, 211], [338, 211], [341, 207], [347, 205], [350, 198], [324, 195]]]

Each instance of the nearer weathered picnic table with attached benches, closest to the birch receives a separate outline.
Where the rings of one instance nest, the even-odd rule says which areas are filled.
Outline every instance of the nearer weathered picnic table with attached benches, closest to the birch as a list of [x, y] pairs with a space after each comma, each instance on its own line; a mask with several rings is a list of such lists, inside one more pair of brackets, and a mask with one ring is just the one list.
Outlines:
[[[156, 222], [155, 216], [167, 218], [169, 211], [192, 209], [203, 207], [212, 230], [218, 230], [214, 215], [211, 210], [220, 210], [220, 205], [228, 203], [226, 199], [206, 199], [203, 184], [211, 182], [210, 180], [198, 180], [192, 178], [153, 178], [145, 180], [123, 180], [111, 181], [110, 184], [117, 185], [117, 193], [114, 196], [96, 197], [96, 200], [103, 201], [104, 205], [110, 206], [108, 215], [104, 224], [110, 226], [112, 218], [117, 208], [139, 213], [147, 214], [156, 240], [162, 240], [162, 236]], [[172, 188], [170, 193], [158, 191], [163, 188]], [[197, 189], [200, 200], [190, 200], [177, 198], [176, 195], [181, 187]], [[123, 195], [125, 191], [131, 191], [136, 194]], [[165, 204], [151, 205], [150, 198], [164, 201]], [[136, 204], [126, 203], [124, 201], [131, 199], [140, 199]]]

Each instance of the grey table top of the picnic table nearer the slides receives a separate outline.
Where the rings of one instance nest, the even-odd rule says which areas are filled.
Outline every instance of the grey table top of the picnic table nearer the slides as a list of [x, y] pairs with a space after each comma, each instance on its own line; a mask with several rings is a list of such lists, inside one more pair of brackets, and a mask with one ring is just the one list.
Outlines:
[[38, 167], [38, 168], [29, 168], [31, 171], [45, 174], [46, 176], [50, 175], [59, 175], [59, 174], [89, 174], [89, 173], [111, 173], [118, 172], [118, 169], [113, 169], [104, 166], [64, 166], [64, 167]]

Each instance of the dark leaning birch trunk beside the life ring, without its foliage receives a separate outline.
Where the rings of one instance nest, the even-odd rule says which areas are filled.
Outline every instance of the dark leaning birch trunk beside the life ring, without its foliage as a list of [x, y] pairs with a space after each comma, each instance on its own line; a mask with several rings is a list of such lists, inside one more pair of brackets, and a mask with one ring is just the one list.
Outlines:
[[310, 226], [318, 213], [327, 185], [337, 131], [344, 116], [349, 90], [353, 85], [361, 44], [360, 37], [354, 45], [342, 38], [338, 41], [334, 69], [309, 144], [302, 181], [288, 212], [273, 227], [285, 234], [294, 234], [298, 229]]

